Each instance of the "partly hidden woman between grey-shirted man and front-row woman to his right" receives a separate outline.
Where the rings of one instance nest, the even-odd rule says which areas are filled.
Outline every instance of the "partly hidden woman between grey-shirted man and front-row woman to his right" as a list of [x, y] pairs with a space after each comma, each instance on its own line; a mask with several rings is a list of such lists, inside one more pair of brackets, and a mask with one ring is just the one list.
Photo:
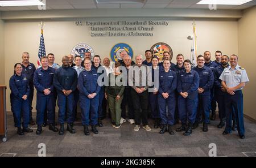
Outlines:
[[[151, 59], [151, 63], [152, 63], [152, 81], [154, 82], [155, 74], [159, 73], [158, 57], [154, 56]], [[152, 118], [155, 119], [154, 128], [158, 128], [160, 126], [160, 115], [159, 115], [159, 107], [158, 107], [158, 89], [156, 89], [155, 85], [152, 86], [151, 88], [154, 89], [154, 91], [149, 93], [149, 104], [151, 107]]]

